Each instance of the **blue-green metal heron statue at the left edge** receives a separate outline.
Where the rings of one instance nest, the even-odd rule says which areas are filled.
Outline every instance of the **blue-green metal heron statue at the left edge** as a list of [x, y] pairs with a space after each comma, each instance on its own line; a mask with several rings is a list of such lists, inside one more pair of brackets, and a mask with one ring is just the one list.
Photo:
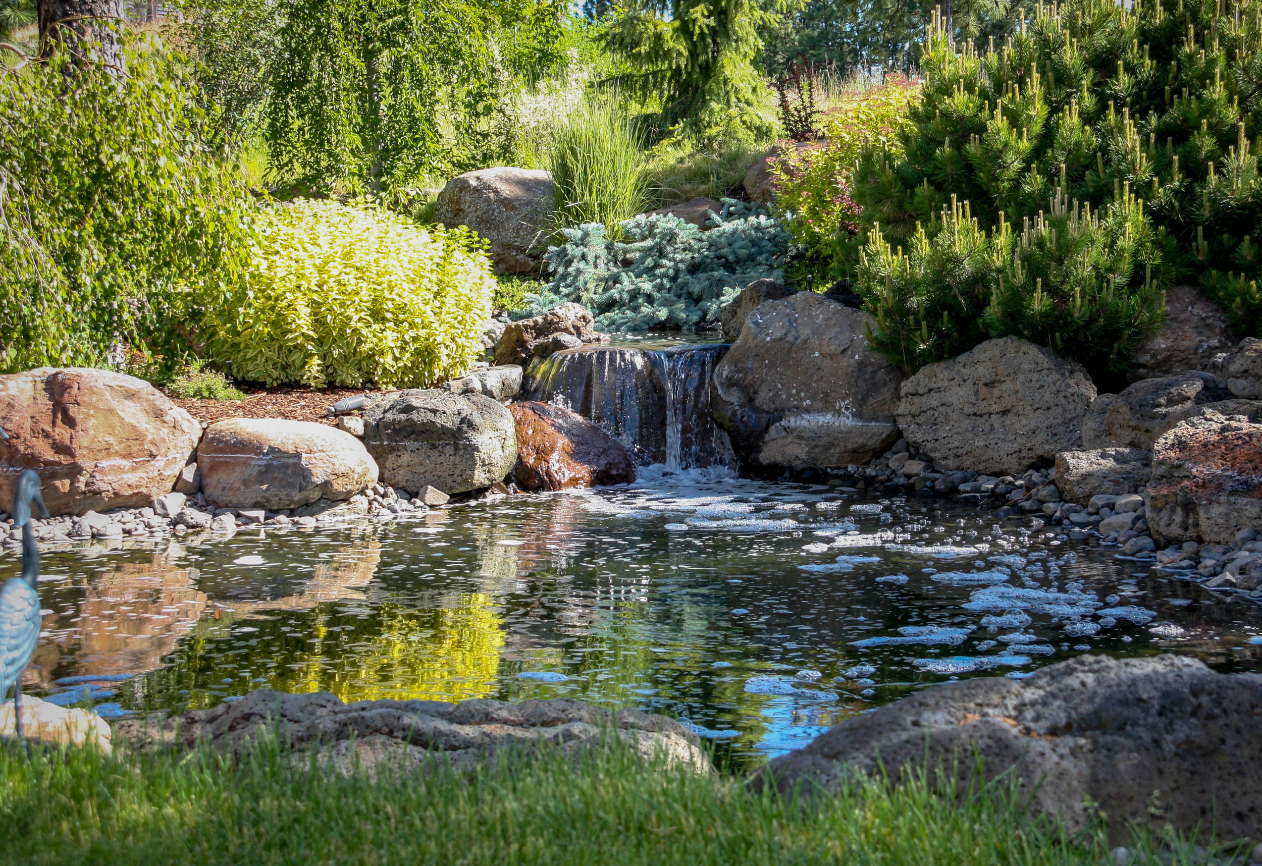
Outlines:
[[[0, 427], [0, 439], [9, 434]], [[13, 685], [14, 732], [20, 740], [21, 731], [21, 673], [30, 664], [39, 640], [39, 548], [35, 530], [30, 526], [30, 506], [38, 505], [39, 514], [48, 519], [39, 476], [24, 470], [18, 476], [18, 494], [13, 502], [13, 521], [21, 528], [21, 577], [11, 577], [0, 584], [0, 699]]]

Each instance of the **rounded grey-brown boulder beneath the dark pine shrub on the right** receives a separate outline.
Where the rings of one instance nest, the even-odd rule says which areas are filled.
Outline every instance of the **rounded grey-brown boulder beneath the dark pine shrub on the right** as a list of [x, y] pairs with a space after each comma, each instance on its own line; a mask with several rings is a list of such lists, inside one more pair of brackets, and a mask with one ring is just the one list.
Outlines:
[[899, 427], [939, 471], [1021, 475], [1079, 447], [1093, 399], [1083, 365], [1002, 337], [905, 381]]

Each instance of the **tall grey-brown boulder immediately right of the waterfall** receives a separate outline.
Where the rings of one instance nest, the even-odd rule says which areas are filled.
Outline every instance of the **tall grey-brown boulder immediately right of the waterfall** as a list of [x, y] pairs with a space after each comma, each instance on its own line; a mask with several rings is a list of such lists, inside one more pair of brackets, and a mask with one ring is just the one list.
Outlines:
[[745, 463], [866, 463], [897, 442], [902, 374], [868, 347], [872, 322], [813, 292], [750, 313], [711, 386], [714, 420]]

